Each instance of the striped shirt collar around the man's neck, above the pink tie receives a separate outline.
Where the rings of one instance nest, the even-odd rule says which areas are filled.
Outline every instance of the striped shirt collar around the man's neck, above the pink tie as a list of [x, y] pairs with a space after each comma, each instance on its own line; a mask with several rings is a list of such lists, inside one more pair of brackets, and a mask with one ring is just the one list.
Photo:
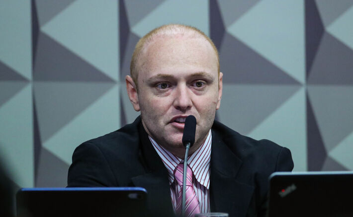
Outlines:
[[[157, 142], [150, 136], [150, 139], [154, 149], [156, 150], [162, 162], [168, 170], [169, 184], [174, 182], [174, 170], [179, 163], [183, 160], [176, 157], [174, 154], [158, 145]], [[209, 189], [210, 180], [210, 160], [211, 160], [211, 144], [212, 144], [212, 133], [211, 130], [208, 132], [205, 142], [187, 159], [187, 164], [190, 166], [192, 173], [196, 180], [207, 189]]]

